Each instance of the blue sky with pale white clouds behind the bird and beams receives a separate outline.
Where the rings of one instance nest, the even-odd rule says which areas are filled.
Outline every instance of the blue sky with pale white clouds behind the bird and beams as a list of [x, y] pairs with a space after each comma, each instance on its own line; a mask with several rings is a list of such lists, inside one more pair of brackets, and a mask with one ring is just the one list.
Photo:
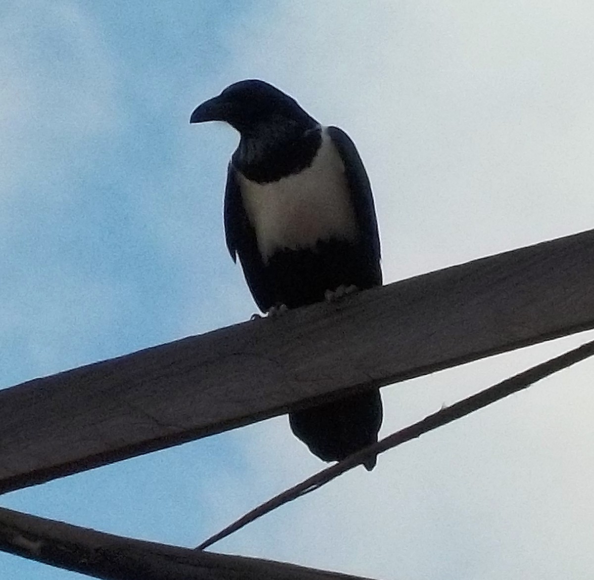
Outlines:
[[[222, 225], [238, 137], [188, 123], [236, 80], [353, 138], [386, 283], [594, 227], [593, 29], [586, 0], [5, 0], [0, 387], [255, 312]], [[386, 387], [381, 435], [592, 338]], [[592, 578], [593, 371], [391, 450], [212, 549], [378, 579]], [[191, 547], [323, 466], [282, 416], [0, 505]], [[0, 578], [86, 576], [0, 553]]]

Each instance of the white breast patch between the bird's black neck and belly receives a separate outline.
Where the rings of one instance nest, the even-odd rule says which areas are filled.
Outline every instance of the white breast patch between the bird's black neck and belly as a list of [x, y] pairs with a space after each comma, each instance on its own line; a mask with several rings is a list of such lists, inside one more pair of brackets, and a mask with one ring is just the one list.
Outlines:
[[254, 183], [238, 172], [242, 198], [266, 261], [276, 250], [313, 247], [318, 240], [354, 240], [355, 213], [345, 165], [326, 133], [312, 164], [272, 183]]

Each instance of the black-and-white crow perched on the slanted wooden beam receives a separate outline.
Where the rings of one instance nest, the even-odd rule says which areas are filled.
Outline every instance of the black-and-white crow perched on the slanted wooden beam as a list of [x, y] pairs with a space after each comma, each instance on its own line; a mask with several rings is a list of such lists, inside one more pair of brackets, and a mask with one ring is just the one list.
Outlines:
[[[381, 286], [380, 237], [369, 177], [342, 129], [323, 126], [263, 80], [230, 84], [190, 123], [223, 121], [239, 132], [227, 171], [225, 239], [254, 301], [278, 314]], [[331, 462], [377, 441], [378, 388], [289, 413], [289, 424]], [[367, 457], [371, 471], [377, 456]]]

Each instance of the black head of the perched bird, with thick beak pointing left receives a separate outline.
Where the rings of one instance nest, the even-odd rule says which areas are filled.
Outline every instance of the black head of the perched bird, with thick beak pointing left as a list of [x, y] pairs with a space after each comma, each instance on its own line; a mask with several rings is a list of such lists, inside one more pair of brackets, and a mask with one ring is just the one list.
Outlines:
[[263, 80], [242, 80], [230, 84], [220, 95], [194, 109], [190, 123], [225, 121], [242, 137], [257, 136], [265, 127], [276, 124], [314, 127], [312, 119], [295, 99]]

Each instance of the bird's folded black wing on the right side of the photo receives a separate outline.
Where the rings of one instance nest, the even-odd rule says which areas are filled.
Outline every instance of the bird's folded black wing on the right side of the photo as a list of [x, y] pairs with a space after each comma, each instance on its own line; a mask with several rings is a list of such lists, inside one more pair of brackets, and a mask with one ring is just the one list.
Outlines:
[[371, 184], [365, 171], [359, 152], [350, 137], [338, 127], [328, 127], [328, 135], [336, 146], [342, 162], [345, 164], [350, 199], [355, 209], [355, 219], [361, 233], [362, 250], [366, 253], [366, 262], [372, 270], [372, 277], [377, 286], [381, 285], [380, 234], [377, 229], [375, 205], [371, 193]]

